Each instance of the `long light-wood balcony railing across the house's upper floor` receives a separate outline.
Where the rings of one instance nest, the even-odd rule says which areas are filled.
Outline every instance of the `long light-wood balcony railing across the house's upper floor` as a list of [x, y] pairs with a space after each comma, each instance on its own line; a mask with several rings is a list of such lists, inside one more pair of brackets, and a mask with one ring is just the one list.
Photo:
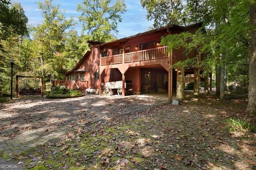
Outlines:
[[131, 52], [131, 53], [118, 54], [118, 55], [113, 55], [108, 57], [102, 57], [101, 65], [139, 62], [139, 61], [155, 60], [155, 59], [165, 58], [165, 57], [168, 57], [168, 54], [166, 54], [166, 46], [140, 50], [138, 52]]

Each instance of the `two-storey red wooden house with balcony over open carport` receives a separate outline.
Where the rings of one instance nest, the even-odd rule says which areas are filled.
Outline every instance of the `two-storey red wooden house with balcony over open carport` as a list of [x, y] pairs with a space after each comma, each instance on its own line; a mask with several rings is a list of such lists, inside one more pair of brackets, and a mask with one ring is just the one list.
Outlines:
[[[102, 87], [107, 82], [122, 81], [123, 95], [126, 80], [132, 82], [135, 94], [153, 90], [157, 84], [159, 90], [168, 93], [171, 101], [172, 91], [177, 84], [177, 71], [170, 67], [186, 57], [182, 49], [166, 53], [166, 46], [160, 44], [161, 38], [184, 31], [195, 33], [200, 27], [201, 22], [183, 26], [172, 24], [109, 43], [87, 41], [90, 52], [65, 73], [64, 84], [69, 89], [92, 88], [102, 94]], [[195, 55], [195, 52], [191, 52], [188, 57]]]

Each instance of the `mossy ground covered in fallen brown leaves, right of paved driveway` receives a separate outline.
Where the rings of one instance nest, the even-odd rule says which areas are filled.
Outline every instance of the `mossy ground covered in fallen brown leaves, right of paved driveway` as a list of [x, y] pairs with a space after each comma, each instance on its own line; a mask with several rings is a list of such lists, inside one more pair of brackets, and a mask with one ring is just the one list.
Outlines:
[[31, 169], [255, 169], [255, 133], [227, 128], [230, 117], [250, 121], [245, 109], [242, 99], [191, 98], [80, 126], [5, 158]]

